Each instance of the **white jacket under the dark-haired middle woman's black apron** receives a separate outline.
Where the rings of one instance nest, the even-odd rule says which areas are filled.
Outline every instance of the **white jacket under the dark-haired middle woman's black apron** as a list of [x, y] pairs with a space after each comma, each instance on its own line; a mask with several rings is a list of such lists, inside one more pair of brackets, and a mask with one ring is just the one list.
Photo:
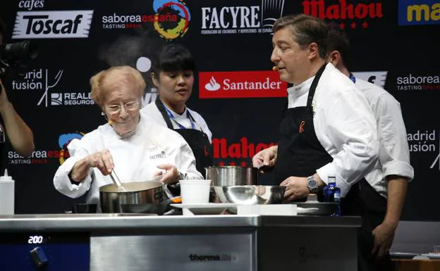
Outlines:
[[[159, 97], [157, 97], [159, 99]], [[212, 132], [209, 130], [208, 125], [206, 121], [204, 121], [204, 118], [197, 112], [192, 111], [188, 106], [185, 106], [185, 112], [183, 112], [182, 115], [172, 111], [166, 104], [164, 103], [165, 108], [168, 108], [171, 114], [173, 114], [174, 120], [171, 120], [171, 123], [173, 124], [174, 129], [178, 129], [179, 126], [176, 122], [180, 123], [183, 127], [186, 129], [191, 129], [191, 120], [188, 118], [187, 111], [190, 112], [190, 115], [193, 116], [195, 120], [195, 130], [199, 130], [207, 134], [209, 142], [212, 142]], [[152, 118], [154, 121], [156, 121], [159, 125], [168, 127], [166, 125], [166, 122], [164, 120], [164, 117], [160, 113], [159, 109], [156, 106], [156, 103], [152, 102], [144, 106], [142, 109], [140, 109], [140, 113], [144, 116], [147, 116], [149, 118]], [[176, 121], [175, 121], [176, 120]]]

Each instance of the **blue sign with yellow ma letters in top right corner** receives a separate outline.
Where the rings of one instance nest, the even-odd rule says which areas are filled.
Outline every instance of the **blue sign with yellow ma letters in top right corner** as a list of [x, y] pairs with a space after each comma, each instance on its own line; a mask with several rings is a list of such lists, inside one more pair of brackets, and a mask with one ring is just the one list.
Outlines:
[[439, 23], [439, 0], [398, 1], [398, 25], [434, 25]]

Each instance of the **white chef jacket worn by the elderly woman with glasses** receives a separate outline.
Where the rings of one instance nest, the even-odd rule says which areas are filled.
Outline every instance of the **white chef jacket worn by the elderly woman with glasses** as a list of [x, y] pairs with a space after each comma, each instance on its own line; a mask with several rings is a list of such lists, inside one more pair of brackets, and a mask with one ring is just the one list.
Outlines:
[[154, 173], [161, 171], [157, 165], [164, 163], [176, 166], [180, 172], [187, 174], [188, 179], [203, 179], [195, 168], [193, 151], [185, 139], [177, 132], [141, 117], [135, 134], [128, 139], [121, 139], [109, 124], [99, 126], [82, 139], [73, 139], [68, 144], [71, 157], [56, 170], [56, 190], [71, 198], [78, 198], [89, 191], [87, 203], [99, 204], [99, 187], [113, 184], [109, 175], [104, 176], [97, 168], [90, 168], [82, 182], [72, 184], [68, 174], [78, 160], [104, 149], [109, 149], [114, 170], [121, 182], [154, 179]]

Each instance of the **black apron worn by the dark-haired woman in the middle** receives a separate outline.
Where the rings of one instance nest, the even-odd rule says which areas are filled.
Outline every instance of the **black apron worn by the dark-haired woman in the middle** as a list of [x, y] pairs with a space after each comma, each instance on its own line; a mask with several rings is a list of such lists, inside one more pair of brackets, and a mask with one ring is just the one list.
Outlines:
[[[166, 113], [164, 103], [161, 102], [159, 97], [157, 97], [155, 103], [157, 109], [159, 109], [159, 112], [162, 114], [162, 117], [166, 122], [166, 126], [168, 126], [169, 129], [181, 134], [181, 136], [190, 146], [191, 150], [193, 150], [195, 157], [195, 168], [197, 168], [197, 171], [202, 173], [203, 177], [206, 178], [206, 172], [204, 168], [213, 165], [212, 145], [209, 142], [207, 134], [195, 129], [174, 129], [173, 124], [171, 123], [171, 119], [168, 113]], [[192, 115], [189, 114], [189, 117], [193, 122], [195, 122]]]

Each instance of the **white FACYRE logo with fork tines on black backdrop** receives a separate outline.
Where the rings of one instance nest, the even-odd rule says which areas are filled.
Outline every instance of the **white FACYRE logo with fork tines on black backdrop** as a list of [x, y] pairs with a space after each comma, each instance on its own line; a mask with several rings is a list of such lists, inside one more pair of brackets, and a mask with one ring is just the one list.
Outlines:
[[205, 6], [202, 7], [200, 33], [271, 33], [276, 19], [283, 15], [283, 8], [284, 0], [261, 0], [260, 6]]

